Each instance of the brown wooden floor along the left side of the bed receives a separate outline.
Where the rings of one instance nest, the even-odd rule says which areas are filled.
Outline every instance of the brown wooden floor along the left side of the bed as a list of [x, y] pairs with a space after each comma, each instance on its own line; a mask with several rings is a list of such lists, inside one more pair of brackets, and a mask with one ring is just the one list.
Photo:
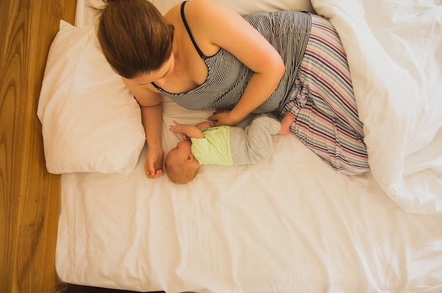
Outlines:
[[0, 292], [56, 292], [60, 177], [44, 165], [37, 103], [59, 21], [76, 0], [0, 1]]

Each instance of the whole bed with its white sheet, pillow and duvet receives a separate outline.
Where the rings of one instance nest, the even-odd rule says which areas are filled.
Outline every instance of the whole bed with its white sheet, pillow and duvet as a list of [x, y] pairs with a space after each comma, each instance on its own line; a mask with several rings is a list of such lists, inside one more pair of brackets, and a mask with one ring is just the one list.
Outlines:
[[[62, 174], [61, 280], [143, 292], [442, 292], [441, 2], [219, 1], [330, 19], [371, 171], [338, 174], [294, 136], [275, 136], [263, 164], [205, 166], [184, 186], [145, 178], [138, 105], [95, 40], [100, 1], [78, 0], [37, 110], [46, 167]], [[162, 13], [179, 3], [153, 2]], [[164, 98], [165, 151], [179, 141], [172, 120], [211, 112]]]

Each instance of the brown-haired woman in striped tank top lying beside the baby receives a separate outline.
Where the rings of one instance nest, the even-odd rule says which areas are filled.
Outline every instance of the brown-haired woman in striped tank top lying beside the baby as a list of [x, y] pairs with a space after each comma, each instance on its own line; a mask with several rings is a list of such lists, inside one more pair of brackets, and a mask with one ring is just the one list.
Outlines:
[[107, 0], [97, 36], [140, 104], [148, 178], [163, 174], [161, 94], [189, 109], [227, 110], [209, 117], [215, 125], [233, 126], [251, 112], [292, 112], [292, 133], [335, 169], [369, 169], [345, 52], [319, 16], [243, 18], [209, 0], [183, 2], [161, 16], [145, 0]]

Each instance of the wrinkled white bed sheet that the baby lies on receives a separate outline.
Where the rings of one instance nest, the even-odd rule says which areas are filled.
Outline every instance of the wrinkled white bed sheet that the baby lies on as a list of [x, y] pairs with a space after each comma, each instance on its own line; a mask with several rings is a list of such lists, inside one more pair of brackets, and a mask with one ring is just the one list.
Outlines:
[[[177, 109], [165, 102], [165, 129], [208, 114]], [[126, 177], [64, 174], [57, 273], [138, 291], [442, 289], [442, 215], [405, 212], [371, 173], [338, 174], [294, 136], [274, 142], [268, 163], [206, 166], [186, 186], [145, 178], [144, 152]]]

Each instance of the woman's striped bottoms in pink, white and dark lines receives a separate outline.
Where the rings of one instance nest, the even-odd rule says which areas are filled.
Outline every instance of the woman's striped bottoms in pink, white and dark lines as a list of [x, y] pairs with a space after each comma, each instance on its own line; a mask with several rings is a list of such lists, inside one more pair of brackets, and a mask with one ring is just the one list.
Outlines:
[[325, 18], [312, 15], [311, 36], [284, 110], [296, 117], [292, 133], [335, 169], [344, 174], [368, 171], [347, 58]]

